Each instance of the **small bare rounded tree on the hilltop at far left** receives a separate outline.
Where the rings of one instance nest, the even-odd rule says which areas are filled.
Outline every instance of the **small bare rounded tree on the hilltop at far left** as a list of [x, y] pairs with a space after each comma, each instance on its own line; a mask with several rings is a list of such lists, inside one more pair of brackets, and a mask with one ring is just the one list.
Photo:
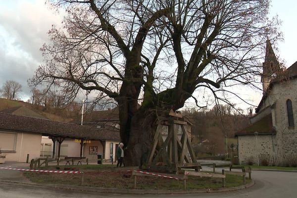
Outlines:
[[22, 91], [22, 85], [18, 82], [8, 80], [5, 81], [1, 89], [1, 94], [6, 99], [16, 99]]

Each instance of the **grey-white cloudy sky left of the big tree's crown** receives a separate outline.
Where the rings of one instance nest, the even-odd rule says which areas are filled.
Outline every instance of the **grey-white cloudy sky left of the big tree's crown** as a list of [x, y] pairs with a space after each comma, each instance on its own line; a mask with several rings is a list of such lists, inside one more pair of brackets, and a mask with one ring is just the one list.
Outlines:
[[42, 0], [1, 3], [0, 87], [6, 80], [14, 80], [23, 86], [22, 99], [30, 97], [27, 79], [42, 63], [39, 49], [48, 41], [51, 25], [61, 20]]

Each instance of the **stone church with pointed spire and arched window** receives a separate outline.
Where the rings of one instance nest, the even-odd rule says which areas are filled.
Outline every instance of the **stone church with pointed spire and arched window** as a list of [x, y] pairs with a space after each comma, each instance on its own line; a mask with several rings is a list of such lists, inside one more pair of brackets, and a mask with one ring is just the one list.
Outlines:
[[283, 70], [269, 40], [261, 82], [263, 97], [256, 114], [236, 133], [239, 162], [290, 165], [297, 159], [297, 62]]

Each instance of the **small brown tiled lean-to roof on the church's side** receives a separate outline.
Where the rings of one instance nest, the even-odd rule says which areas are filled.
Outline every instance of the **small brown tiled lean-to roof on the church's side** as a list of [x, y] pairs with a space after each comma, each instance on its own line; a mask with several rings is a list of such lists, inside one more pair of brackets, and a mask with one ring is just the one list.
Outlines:
[[237, 133], [235, 133], [235, 136], [254, 134], [255, 132], [257, 132], [258, 134], [276, 133], [275, 129], [272, 126], [271, 114], [268, 114], [261, 120], [253, 123], [252, 125], [244, 128], [243, 130], [238, 131]]

